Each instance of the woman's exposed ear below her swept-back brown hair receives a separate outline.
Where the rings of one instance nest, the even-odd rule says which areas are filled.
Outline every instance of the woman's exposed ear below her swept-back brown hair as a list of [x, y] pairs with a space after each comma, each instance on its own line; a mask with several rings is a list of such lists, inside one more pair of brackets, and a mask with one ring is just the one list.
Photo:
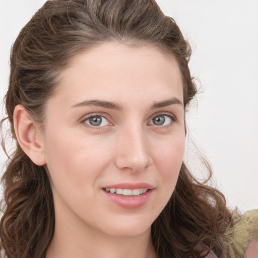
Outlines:
[[38, 166], [45, 165], [40, 126], [22, 105], [17, 105], [14, 110], [14, 130], [19, 145], [32, 162]]

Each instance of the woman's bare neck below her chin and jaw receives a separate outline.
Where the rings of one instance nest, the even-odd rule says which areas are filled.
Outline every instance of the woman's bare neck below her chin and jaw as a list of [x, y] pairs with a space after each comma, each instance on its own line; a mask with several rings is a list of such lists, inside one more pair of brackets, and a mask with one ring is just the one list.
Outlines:
[[[70, 221], [71, 222], [71, 221]], [[65, 226], [63, 226], [65, 225]], [[46, 258], [156, 258], [151, 228], [137, 236], [114, 236], [82, 223], [55, 221]]]

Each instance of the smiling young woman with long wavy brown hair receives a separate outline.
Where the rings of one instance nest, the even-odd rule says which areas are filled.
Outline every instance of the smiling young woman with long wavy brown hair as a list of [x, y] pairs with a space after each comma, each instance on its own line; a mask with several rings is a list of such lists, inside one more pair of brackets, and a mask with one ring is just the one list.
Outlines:
[[189, 57], [153, 1], [48, 1], [34, 15], [6, 95], [6, 257], [249, 255], [256, 213], [238, 222], [183, 163]]

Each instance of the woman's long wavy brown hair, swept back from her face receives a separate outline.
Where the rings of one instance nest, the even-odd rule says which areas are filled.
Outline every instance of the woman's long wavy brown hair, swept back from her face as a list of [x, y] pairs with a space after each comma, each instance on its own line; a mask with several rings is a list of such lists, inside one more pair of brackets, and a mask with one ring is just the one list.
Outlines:
[[[12, 48], [5, 119], [14, 138], [15, 106], [22, 104], [43, 128], [46, 100], [55, 94], [61, 71], [76, 54], [109, 41], [148, 44], [173, 55], [182, 74], [187, 108], [197, 93], [188, 68], [191, 49], [175, 21], [154, 0], [47, 1]], [[205, 164], [209, 180], [211, 169]], [[54, 204], [46, 169], [35, 165], [17, 144], [2, 182], [0, 248], [9, 258], [45, 257], [54, 233]], [[195, 179], [183, 163], [173, 195], [152, 225], [153, 245], [160, 258], [203, 257], [194, 250], [201, 242], [223, 257], [222, 236], [230, 221], [222, 193]], [[182, 228], [196, 239], [189, 240]]]

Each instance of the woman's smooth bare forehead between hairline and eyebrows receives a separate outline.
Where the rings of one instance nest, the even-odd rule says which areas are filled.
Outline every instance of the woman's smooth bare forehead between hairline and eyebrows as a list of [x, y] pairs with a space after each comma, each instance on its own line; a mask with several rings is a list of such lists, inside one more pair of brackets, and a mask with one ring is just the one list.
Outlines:
[[[182, 79], [178, 63], [154, 46], [127, 46], [105, 43], [76, 55], [61, 73], [59, 93], [69, 101], [83, 98], [150, 97], [167, 94], [182, 99]], [[174, 96], [171, 96], [174, 97]], [[73, 99], [74, 98], [74, 99]]]

